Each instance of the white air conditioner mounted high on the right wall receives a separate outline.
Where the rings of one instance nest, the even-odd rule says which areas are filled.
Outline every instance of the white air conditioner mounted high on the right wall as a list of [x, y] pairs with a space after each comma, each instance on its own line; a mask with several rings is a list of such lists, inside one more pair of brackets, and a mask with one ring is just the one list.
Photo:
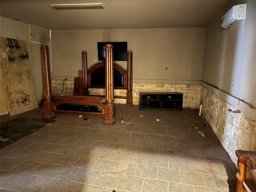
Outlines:
[[246, 18], [246, 6], [247, 4], [240, 4], [233, 6], [226, 14], [221, 18], [221, 26], [223, 28], [231, 28], [238, 23], [242, 22]]

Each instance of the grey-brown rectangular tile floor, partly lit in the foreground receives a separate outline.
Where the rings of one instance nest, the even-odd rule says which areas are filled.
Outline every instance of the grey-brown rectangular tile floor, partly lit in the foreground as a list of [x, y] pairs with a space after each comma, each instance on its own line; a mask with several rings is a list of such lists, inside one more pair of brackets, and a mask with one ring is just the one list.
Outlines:
[[[235, 191], [237, 169], [198, 110], [126, 111], [131, 123], [121, 124], [116, 113], [114, 126], [102, 117], [57, 114], [2, 148], [0, 192]], [[42, 118], [42, 109], [21, 116]]]

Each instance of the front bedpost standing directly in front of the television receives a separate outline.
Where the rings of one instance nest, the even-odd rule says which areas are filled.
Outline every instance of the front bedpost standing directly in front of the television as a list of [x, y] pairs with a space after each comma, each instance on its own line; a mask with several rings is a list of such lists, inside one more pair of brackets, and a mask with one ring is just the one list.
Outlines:
[[105, 46], [106, 65], [106, 106], [104, 125], [113, 125], [116, 122], [114, 117], [114, 66], [113, 66], [113, 46]]

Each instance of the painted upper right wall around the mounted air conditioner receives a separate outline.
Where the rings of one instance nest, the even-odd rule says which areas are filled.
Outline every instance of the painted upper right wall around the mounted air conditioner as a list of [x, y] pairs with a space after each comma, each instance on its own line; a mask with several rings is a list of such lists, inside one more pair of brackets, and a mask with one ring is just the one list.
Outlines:
[[[246, 20], [231, 29], [221, 17], [247, 3]], [[202, 80], [256, 107], [256, 1], [231, 1], [206, 28]], [[233, 84], [234, 81], [234, 84]]]

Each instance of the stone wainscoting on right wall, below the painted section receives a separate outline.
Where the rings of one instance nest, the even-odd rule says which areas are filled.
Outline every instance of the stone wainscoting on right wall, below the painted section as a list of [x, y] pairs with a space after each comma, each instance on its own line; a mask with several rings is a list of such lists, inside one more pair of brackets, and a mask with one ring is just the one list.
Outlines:
[[256, 122], [243, 112], [229, 112], [228, 109], [237, 109], [206, 88], [201, 86], [200, 89], [202, 115], [236, 165], [236, 150], [256, 151]]

